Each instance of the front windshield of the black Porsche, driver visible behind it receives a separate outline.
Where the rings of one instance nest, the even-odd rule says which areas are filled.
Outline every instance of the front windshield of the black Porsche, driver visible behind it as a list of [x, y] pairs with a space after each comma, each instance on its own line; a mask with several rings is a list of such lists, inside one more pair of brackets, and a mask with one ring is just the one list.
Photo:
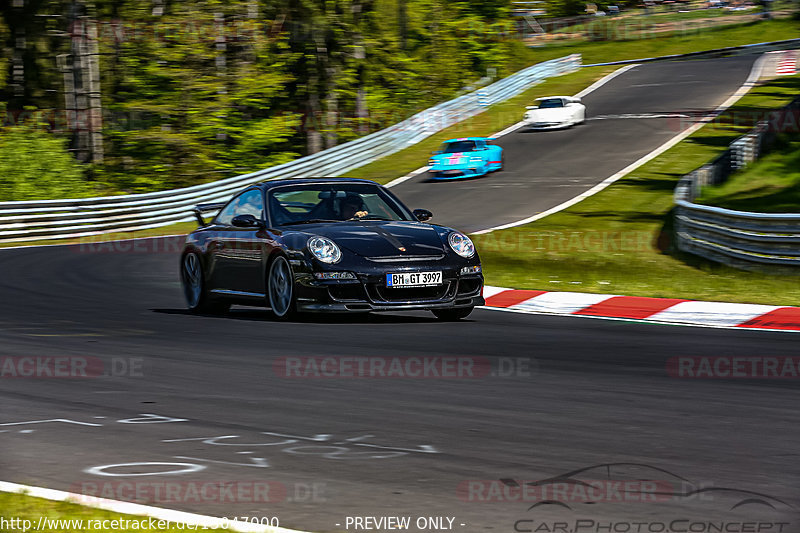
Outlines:
[[310, 183], [269, 191], [275, 226], [346, 220], [415, 220], [383, 189], [362, 183]]

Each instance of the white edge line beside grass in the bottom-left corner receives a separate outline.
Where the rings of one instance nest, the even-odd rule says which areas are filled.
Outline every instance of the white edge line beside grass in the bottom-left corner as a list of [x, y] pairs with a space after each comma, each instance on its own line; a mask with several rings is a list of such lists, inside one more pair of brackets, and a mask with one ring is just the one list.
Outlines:
[[26, 496], [33, 496], [35, 498], [42, 498], [44, 500], [75, 503], [77, 505], [83, 505], [103, 511], [110, 511], [112, 513], [134, 515], [143, 518], [153, 518], [155, 520], [165, 520], [175, 523], [191, 524], [193, 526], [203, 527], [203, 529], [221, 528], [228, 531], [241, 531], [244, 533], [308, 533], [305, 531], [286, 529], [282, 527], [264, 526], [260, 524], [225, 520], [213, 516], [164, 509], [162, 507], [151, 507], [149, 505], [141, 505], [138, 503], [109, 500], [106, 498], [89, 498], [85, 494], [76, 494], [73, 492], [34, 487], [31, 485], [20, 485], [18, 483], [11, 483], [8, 481], [0, 481], [0, 492], [24, 494]]

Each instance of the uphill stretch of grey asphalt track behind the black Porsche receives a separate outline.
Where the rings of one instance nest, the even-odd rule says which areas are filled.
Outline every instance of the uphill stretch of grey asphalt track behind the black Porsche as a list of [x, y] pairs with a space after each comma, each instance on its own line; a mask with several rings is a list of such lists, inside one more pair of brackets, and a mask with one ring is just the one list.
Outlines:
[[[691, 126], [692, 117], [716, 109], [745, 82], [756, 57], [639, 65], [583, 99], [586, 124], [524, 128], [498, 139], [503, 171], [438, 182], [425, 173], [392, 190], [412, 209], [431, 209], [433, 222], [462, 231], [525, 219], [591, 188]], [[630, 114], [687, 117], [606, 118]]]

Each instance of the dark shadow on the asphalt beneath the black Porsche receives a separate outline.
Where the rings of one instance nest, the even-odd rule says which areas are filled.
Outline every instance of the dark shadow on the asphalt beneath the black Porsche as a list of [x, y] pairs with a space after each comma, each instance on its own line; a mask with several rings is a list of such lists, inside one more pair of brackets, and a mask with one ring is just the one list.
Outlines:
[[[429, 313], [302, 313], [292, 320], [278, 320], [267, 309], [234, 307], [224, 314], [197, 314], [186, 309], [150, 309], [154, 313], [167, 315], [187, 315], [211, 317], [226, 320], [246, 320], [251, 322], [275, 322], [294, 324], [425, 324], [439, 322]], [[424, 314], [423, 314], [424, 313]], [[426, 316], [427, 315], [427, 316]], [[462, 322], [470, 322], [469, 319]]]

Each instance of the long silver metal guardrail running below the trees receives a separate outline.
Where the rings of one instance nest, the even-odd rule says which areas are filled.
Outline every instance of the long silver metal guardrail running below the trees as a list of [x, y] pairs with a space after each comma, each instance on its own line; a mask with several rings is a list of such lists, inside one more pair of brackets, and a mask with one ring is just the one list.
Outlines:
[[253, 183], [336, 176], [398, 152], [546, 78], [580, 67], [580, 54], [539, 63], [359, 139], [258, 172], [168, 191], [98, 198], [0, 202], [0, 242], [68, 239], [194, 220], [197, 203], [227, 200]]

